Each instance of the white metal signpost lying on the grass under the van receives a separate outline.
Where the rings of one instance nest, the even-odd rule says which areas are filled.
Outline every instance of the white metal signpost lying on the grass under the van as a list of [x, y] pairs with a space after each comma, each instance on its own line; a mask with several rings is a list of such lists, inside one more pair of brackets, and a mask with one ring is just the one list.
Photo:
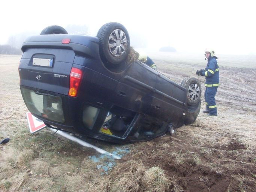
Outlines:
[[[47, 128], [50, 129], [50, 130], [52, 130], [53, 132], [56, 132], [56, 129], [52, 129], [52, 128], [50, 128], [50, 127], [47, 127]], [[79, 139], [79, 138], [77, 138], [77, 137], [75, 137], [75, 136], [72, 136], [72, 135], [70, 135], [70, 134], [68, 134], [68, 133], [66, 133], [66, 132], [64, 132], [64, 131], [57, 130], [56, 133], [58, 133], [58, 134], [61, 135], [61, 136], [66, 137], [66, 138], [68, 138], [68, 139], [70, 139], [70, 140], [72, 140], [72, 141], [75, 141], [75, 142], [79, 143], [80, 145], [83, 145], [84, 147], [94, 148], [96, 151], [98, 151], [98, 152], [101, 153], [101, 154], [107, 154], [107, 155], [113, 156], [114, 159], [120, 159], [119, 156], [114, 155], [114, 154], [112, 154], [112, 153], [109, 153], [108, 151], [105, 151], [105, 150], [103, 150], [103, 149], [101, 149], [101, 148], [99, 148], [99, 147], [96, 147], [96, 146], [94, 146], [94, 145], [92, 145], [92, 144], [90, 144], [90, 143], [88, 143], [88, 142], [85, 142], [85, 141], [83, 141], [82, 139]]]

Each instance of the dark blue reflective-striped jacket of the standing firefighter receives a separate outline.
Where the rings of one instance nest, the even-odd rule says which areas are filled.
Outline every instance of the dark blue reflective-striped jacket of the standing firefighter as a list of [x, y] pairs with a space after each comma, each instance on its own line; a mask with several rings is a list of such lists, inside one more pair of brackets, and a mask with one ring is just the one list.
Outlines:
[[220, 86], [219, 66], [216, 60], [217, 57], [211, 57], [208, 60], [202, 76], [205, 76], [205, 87], [218, 87]]

